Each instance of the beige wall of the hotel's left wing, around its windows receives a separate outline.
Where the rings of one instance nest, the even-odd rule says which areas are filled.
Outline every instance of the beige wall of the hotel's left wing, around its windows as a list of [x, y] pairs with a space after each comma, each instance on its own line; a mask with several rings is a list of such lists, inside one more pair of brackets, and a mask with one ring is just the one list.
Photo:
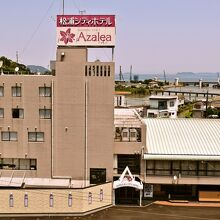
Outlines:
[[[4, 118], [0, 118], [0, 131], [18, 132], [18, 141], [2, 141], [2, 158], [37, 159], [37, 171], [26, 171], [26, 176], [50, 177], [51, 169], [51, 120], [40, 119], [39, 109], [51, 108], [50, 97], [40, 97], [39, 87], [51, 86], [52, 76], [1, 75], [0, 86], [4, 86], [4, 96], [0, 97], [0, 108], [4, 108]], [[11, 87], [21, 86], [22, 96], [12, 97]], [[12, 118], [12, 108], [23, 108], [24, 118]], [[28, 131], [44, 132], [44, 142], [28, 142]], [[3, 173], [12, 171], [3, 171]], [[23, 171], [24, 172], [24, 171]], [[15, 171], [20, 175], [22, 171]], [[10, 175], [10, 174], [9, 174]], [[22, 174], [23, 175], [23, 174]]]

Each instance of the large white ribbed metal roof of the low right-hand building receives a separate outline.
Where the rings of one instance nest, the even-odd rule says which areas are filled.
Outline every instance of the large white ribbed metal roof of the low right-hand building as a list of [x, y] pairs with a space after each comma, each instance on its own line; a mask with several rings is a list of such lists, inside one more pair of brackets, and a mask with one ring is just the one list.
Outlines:
[[220, 160], [220, 120], [144, 119], [145, 159]]

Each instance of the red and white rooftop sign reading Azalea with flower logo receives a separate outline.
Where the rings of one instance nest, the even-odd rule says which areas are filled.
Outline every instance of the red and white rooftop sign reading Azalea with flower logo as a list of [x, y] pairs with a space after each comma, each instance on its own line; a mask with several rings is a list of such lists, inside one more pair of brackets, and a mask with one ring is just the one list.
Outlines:
[[115, 46], [114, 15], [57, 15], [58, 46]]

